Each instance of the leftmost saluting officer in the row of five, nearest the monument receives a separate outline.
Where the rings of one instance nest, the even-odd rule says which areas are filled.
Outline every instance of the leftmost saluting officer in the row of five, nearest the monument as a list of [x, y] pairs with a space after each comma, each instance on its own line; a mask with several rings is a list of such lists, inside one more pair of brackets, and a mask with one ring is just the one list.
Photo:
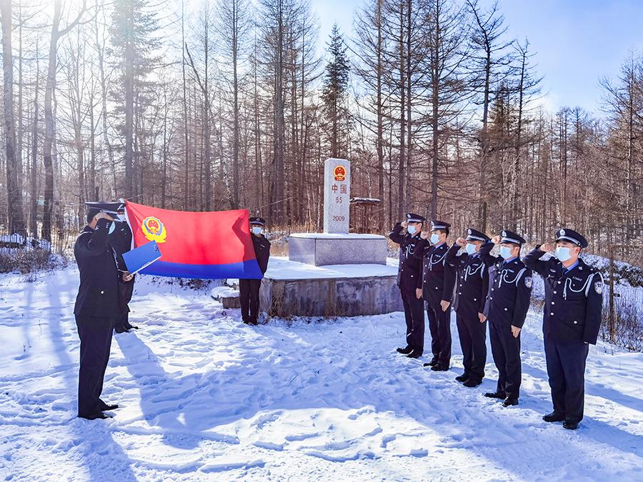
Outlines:
[[409, 213], [406, 221], [396, 224], [389, 233], [391, 241], [398, 243], [400, 247], [397, 286], [402, 295], [404, 318], [407, 322], [407, 346], [397, 348], [397, 351], [409, 358], [419, 358], [424, 352], [422, 261], [414, 254], [417, 249], [424, 249], [420, 233], [425, 220], [424, 216]]

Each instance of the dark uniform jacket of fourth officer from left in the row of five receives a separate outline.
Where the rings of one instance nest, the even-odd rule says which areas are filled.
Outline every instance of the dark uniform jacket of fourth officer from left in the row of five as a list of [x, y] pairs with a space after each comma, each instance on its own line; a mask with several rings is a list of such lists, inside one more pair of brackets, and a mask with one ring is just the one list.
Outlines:
[[492, 256], [489, 251], [485, 250], [481, 255], [486, 263], [492, 263], [484, 316], [487, 316], [489, 323], [522, 328], [532, 296], [532, 270], [520, 258], [507, 263], [500, 256]]

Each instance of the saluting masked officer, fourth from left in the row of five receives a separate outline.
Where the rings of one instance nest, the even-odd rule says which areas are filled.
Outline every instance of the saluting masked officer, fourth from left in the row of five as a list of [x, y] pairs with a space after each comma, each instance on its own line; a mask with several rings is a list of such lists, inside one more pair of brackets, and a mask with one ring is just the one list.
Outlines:
[[500, 245], [500, 256], [489, 249], [480, 253], [489, 268], [489, 291], [484, 316], [489, 320], [492, 355], [498, 368], [496, 391], [485, 393], [489, 398], [502, 398], [502, 406], [518, 405], [522, 370], [520, 363], [520, 330], [532, 296], [532, 270], [520, 261], [520, 247], [525, 242], [512, 231], [494, 236]]

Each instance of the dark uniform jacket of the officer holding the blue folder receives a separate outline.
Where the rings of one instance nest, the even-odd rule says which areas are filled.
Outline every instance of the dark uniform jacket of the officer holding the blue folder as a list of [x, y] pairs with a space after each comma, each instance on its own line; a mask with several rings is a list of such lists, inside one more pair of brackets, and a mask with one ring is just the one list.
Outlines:
[[[116, 251], [109, 243], [111, 221], [99, 219], [96, 229], [85, 226], [74, 244], [74, 256], [80, 271], [80, 286], [74, 314], [95, 318], [118, 318], [121, 273], [116, 265]], [[129, 281], [131, 283], [131, 281]]]

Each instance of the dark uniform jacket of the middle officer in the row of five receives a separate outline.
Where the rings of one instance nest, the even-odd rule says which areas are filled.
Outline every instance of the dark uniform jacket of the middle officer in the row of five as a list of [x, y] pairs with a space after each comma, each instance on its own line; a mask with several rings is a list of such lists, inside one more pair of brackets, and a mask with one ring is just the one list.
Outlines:
[[474, 255], [458, 254], [460, 247], [457, 244], [447, 251], [447, 262], [454, 263], [456, 268], [453, 308], [458, 313], [477, 316], [484, 311], [489, 291], [489, 266], [480, 253], [484, 250], [488, 253], [492, 246], [492, 243], [485, 243]]

